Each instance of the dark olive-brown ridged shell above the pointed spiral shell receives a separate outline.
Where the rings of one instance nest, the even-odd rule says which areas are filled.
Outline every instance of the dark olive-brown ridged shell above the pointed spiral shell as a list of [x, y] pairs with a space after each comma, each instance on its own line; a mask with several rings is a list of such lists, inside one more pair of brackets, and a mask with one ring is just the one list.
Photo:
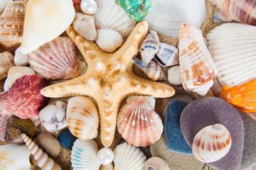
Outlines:
[[36, 126], [31, 119], [20, 119], [15, 115], [7, 121], [4, 140], [7, 143], [23, 143], [21, 133], [26, 133], [32, 139], [36, 137]]

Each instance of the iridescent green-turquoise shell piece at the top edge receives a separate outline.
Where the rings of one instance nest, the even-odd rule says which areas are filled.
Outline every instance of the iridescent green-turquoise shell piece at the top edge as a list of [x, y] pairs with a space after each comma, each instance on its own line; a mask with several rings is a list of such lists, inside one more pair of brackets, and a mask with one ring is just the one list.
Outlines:
[[129, 18], [134, 21], [142, 21], [146, 13], [154, 6], [154, 0], [115, 0], [114, 3], [124, 8]]

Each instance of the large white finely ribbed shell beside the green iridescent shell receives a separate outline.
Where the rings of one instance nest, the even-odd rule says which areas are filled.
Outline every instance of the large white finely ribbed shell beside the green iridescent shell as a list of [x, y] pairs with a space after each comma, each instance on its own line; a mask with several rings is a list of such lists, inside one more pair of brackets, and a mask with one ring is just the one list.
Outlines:
[[183, 23], [201, 28], [206, 18], [204, 0], [156, 0], [155, 3], [144, 20], [149, 23], [149, 29], [162, 35], [178, 38]]

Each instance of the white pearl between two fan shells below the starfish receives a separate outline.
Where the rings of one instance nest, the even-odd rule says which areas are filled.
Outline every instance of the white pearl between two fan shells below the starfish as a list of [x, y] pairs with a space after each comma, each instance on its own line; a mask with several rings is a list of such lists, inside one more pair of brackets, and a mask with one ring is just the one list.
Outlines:
[[97, 153], [97, 159], [100, 160], [100, 164], [110, 164], [114, 159], [114, 152], [108, 147], [103, 147]]

